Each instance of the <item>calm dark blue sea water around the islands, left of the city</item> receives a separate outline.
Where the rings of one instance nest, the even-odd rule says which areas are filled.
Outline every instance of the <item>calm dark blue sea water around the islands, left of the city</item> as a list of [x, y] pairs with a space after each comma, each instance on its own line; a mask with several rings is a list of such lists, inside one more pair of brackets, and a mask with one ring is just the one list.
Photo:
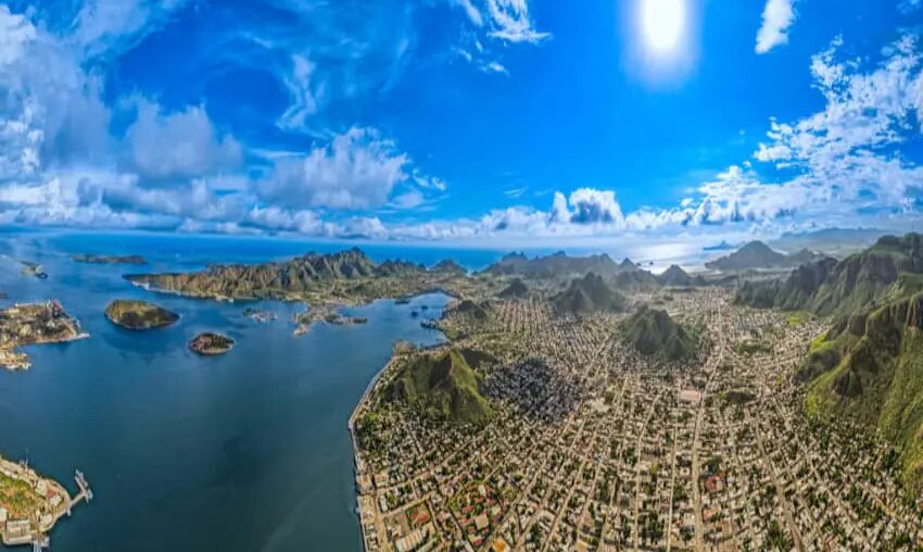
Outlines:
[[[15, 262], [0, 261], [0, 289], [10, 294], [0, 304], [56, 298], [91, 335], [28, 348], [28, 372], [0, 371], [0, 454], [27, 459], [71, 489], [74, 468], [83, 469], [96, 493], [55, 528], [52, 550], [361, 550], [346, 422], [395, 340], [443, 339], [410, 311], [426, 304], [438, 315], [444, 296], [407, 305], [378, 301], [350, 310], [367, 316], [367, 325], [320, 325], [295, 338], [289, 321], [300, 305], [260, 303], [279, 319], [258, 325], [241, 303], [159, 296], [121, 276], [321, 248], [41, 233], [4, 238], [0, 252], [41, 262], [50, 278], [20, 276]], [[154, 264], [69, 260], [83, 251], [139, 253]], [[444, 256], [419, 251], [390, 256]], [[396, 253], [370, 251], [389, 252]], [[478, 264], [471, 254], [468, 263]], [[103, 309], [123, 297], [153, 300], [182, 317], [165, 329], [122, 330]], [[237, 346], [218, 357], [190, 353], [186, 342], [205, 329], [227, 333]]]

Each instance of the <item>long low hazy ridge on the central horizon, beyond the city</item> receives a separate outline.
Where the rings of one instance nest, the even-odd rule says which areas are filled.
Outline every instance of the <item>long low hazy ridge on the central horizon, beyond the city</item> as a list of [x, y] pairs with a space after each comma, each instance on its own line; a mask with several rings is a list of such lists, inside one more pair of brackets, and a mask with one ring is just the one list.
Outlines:
[[595, 273], [602, 276], [617, 274], [621, 268], [603, 253], [589, 256], [570, 256], [558, 251], [547, 256], [528, 259], [522, 253], [510, 253], [484, 269], [494, 276], [513, 275], [533, 279], [564, 278]]

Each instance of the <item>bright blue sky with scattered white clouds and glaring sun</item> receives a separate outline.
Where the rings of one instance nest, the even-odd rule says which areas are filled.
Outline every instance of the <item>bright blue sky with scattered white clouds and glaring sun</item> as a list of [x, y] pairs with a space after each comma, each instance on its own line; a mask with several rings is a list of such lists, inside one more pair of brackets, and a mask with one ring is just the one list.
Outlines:
[[921, 0], [0, 1], [0, 225], [916, 228]]

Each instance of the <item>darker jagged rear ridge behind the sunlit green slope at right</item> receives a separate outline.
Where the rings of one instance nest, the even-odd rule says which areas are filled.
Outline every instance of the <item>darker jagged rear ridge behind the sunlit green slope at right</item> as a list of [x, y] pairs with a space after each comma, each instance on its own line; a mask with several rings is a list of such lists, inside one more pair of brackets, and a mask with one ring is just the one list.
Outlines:
[[799, 266], [784, 280], [745, 283], [734, 301], [819, 315], [850, 314], [882, 300], [901, 273], [923, 273], [923, 236], [884, 236], [843, 261], [826, 258]]

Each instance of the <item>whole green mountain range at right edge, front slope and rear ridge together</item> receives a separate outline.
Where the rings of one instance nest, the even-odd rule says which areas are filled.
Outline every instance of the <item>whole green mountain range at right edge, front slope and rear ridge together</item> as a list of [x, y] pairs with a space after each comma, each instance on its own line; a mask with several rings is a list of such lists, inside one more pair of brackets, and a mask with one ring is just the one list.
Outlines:
[[903, 479], [923, 489], [923, 236], [884, 236], [842, 261], [746, 283], [734, 301], [836, 315], [796, 378], [810, 416], [846, 416], [886, 437]]

